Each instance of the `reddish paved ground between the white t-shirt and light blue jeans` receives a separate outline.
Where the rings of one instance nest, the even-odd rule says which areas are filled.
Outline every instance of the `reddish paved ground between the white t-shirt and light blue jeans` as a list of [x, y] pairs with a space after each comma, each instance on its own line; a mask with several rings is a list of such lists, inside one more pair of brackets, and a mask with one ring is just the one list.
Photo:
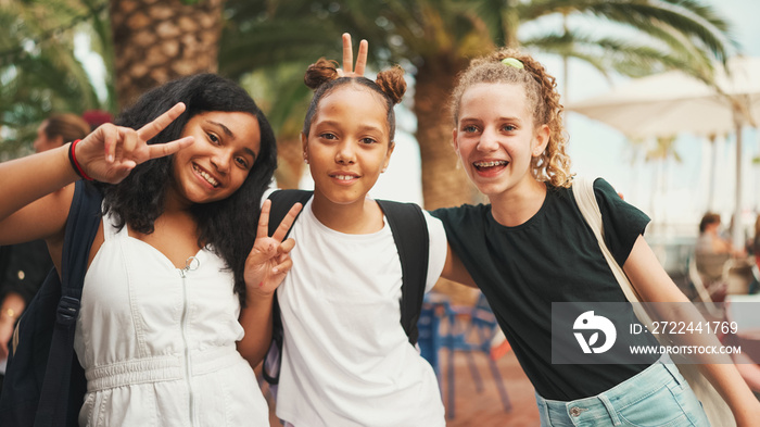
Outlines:
[[[443, 399], [447, 402], [446, 384], [446, 361], [447, 353], [441, 351], [443, 372]], [[456, 353], [454, 357], [455, 366], [455, 417], [447, 418], [447, 427], [534, 427], [539, 425], [539, 411], [533, 398], [533, 387], [522, 373], [520, 365], [512, 352], [507, 353], [497, 361], [497, 366], [504, 378], [507, 395], [511, 401], [512, 409], [505, 412], [499, 399], [499, 394], [494, 382], [487, 361], [483, 354], [473, 354], [476, 366], [483, 380], [483, 390], [476, 390], [476, 382], [472, 379], [467, 366], [467, 357], [464, 353]], [[265, 390], [265, 395], [267, 394]], [[451, 407], [446, 407], [451, 414]], [[273, 427], [280, 427], [277, 417], [270, 417]], [[423, 427], [423, 426], [421, 426]]]

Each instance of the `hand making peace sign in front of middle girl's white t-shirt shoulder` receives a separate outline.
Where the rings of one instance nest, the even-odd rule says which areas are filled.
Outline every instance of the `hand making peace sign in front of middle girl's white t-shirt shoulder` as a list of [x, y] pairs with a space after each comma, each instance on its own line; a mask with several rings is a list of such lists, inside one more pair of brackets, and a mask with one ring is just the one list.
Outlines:
[[258, 217], [256, 240], [245, 260], [245, 289], [249, 297], [265, 297], [275, 292], [293, 265], [290, 251], [295, 246], [293, 239], [284, 240], [288, 230], [301, 212], [301, 203], [295, 203], [269, 237], [269, 210], [271, 200], [265, 200]]

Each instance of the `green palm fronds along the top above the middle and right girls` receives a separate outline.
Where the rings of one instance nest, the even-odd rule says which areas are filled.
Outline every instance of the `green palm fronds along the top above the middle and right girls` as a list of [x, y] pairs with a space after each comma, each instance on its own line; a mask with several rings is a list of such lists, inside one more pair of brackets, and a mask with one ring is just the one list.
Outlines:
[[[725, 20], [697, 0], [228, 0], [226, 8], [219, 67], [235, 78], [340, 59], [344, 32], [369, 40], [376, 70], [401, 63], [417, 79], [426, 78], [417, 74], [423, 63], [519, 45], [587, 62], [605, 76], [680, 68], [710, 81], [713, 62], [736, 49]], [[287, 74], [271, 93], [296, 105], [286, 93], [297, 92], [288, 88], [302, 86], [301, 76]]]

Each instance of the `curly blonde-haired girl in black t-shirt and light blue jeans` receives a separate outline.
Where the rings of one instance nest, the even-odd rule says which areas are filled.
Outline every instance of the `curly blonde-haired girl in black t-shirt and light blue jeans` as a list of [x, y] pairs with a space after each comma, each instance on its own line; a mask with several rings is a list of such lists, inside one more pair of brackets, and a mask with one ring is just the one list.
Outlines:
[[[645, 363], [553, 363], [554, 302], [628, 301], [574, 201], [555, 78], [531, 56], [501, 50], [472, 61], [451, 106], [454, 148], [490, 203], [432, 214], [535, 387], [542, 426], [709, 425], [667, 354]], [[642, 236], [649, 218], [604, 179], [593, 186], [607, 247], [642, 301], [687, 304]], [[631, 310], [605, 315], [618, 325], [637, 323]], [[658, 346], [651, 334], [617, 335], [625, 346]], [[578, 349], [558, 351], [570, 350]], [[760, 406], [734, 366], [700, 368], [737, 423], [757, 425]]]

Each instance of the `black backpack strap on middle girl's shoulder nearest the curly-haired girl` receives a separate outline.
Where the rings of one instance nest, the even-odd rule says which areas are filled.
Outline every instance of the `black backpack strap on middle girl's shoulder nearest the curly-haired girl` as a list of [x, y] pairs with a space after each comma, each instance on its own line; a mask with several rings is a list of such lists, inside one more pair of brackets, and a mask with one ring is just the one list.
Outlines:
[[419, 321], [428, 280], [428, 262], [430, 253], [430, 235], [428, 222], [422, 209], [415, 203], [400, 203], [377, 200], [382, 209], [388, 225], [393, 233], [393, 240], [401, 259], [401, 324], [411, 344], [417, 343]]

